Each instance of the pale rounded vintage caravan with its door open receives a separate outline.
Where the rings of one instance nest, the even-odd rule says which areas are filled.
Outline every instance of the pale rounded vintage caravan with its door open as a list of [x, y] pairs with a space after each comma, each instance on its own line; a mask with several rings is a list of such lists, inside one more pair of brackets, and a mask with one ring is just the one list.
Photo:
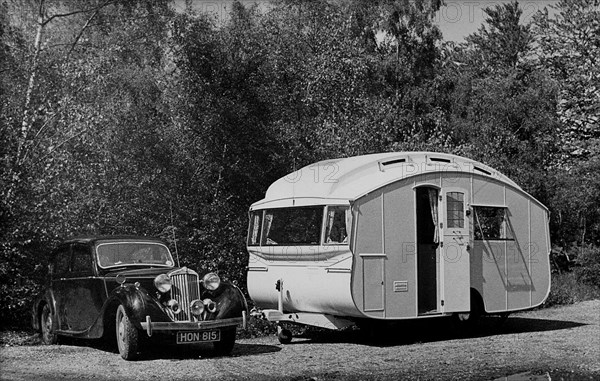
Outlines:
[[506, 315], [548, 296], [548, 222], [517, 184], [463, 157], [326, 160], [250, 207], [248, 292], [270, 321], [331, 329]]

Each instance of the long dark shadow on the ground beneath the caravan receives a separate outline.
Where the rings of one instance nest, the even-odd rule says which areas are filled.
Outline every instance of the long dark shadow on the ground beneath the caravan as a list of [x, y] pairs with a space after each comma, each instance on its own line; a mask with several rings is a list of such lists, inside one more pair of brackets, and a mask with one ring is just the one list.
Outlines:
[[584, 323], [513, 317], [504, 321], [499, 317], [485, 317], [474, 327], [464, 327], [452, 318], [422, 319], [388, 323], [364, 324], [344, 331], [307, 329], [294, 335], [293, 344], [355, 343], [373, 346], [394, 346], [427, 343], [463, 338], [488, 337], [524, 332], [543, 332], [571, 329]]

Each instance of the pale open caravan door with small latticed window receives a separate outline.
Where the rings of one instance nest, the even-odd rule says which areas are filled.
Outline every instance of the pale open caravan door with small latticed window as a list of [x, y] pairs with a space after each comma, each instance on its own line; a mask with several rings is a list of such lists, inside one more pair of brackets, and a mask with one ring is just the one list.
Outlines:
[[443, 215], [440, 272], [442, 274], [442, 312], [471, 309], [469, 218], [467, 192], [461, 188], [442, 190], [440, 212]]

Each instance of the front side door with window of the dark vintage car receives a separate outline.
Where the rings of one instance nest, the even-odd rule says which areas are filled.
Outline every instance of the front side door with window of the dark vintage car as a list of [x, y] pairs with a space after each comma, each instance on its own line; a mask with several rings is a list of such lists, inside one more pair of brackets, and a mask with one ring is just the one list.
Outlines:
[[102, 278], [95, 275], [92, 248], [76, 243], [71, 249], [71, 272], [65, 279], [65, 323], [73, 333], [88, 330], [100, 316], [106, 299]]

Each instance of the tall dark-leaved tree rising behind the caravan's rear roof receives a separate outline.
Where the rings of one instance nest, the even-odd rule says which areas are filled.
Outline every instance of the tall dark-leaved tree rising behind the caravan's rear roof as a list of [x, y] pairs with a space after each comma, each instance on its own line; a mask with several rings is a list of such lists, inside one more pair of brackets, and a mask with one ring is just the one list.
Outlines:
[[547, 202], [549, 168], [558, 151], [552, 138], [557, 87], [531, 62], [532, 36], [520, 24], [518, 3], [486, 13], [486, 24], [466, 43], [446, 47], [440, 81], [453, 89], [447, 101], [451, 146]]

